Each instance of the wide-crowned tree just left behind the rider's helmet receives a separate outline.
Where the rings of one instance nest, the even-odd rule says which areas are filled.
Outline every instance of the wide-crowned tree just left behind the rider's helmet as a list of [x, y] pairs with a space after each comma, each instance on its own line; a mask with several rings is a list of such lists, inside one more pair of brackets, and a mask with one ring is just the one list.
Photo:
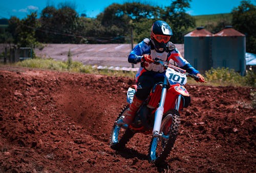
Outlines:
[[132, 30], [135, 31], [135, 35], [147, 33], [152, 22], [150, 26], [144, 27], [141, 27], [141, 22], [145, 23], [146, 20], [159, 18], [160, 11], [159, 7], [141, 3], [124, 3], [123, 5], [114, 3], [98, 15], [97, 20], [100, 21], [104, 31], [101, 34], [112, 38], [110, 41], [114, 41], [113, 38], [119, 38], [115, 41], [124, 42], [124, 38], [130, 41]]

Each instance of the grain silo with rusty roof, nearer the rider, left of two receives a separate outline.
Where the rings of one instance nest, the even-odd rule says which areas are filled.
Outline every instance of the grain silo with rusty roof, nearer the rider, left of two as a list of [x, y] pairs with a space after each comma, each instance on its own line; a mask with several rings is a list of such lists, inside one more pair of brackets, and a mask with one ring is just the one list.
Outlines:
[[204, 27], [198, 27], [184, 36], [184, 58], [201, 73], [211, 67], [211, 36]]

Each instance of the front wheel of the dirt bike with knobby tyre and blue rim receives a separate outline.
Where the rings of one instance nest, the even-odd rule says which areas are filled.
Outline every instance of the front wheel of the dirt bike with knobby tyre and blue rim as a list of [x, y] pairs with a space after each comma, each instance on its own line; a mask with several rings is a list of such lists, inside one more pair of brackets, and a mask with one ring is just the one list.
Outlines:
[[180, 114], [177, 110], [169, 110], [163, 114], [159, 137], [153, 137], [148, 152], [148, 160], [159, 164], [172, 150], [180, 126]]

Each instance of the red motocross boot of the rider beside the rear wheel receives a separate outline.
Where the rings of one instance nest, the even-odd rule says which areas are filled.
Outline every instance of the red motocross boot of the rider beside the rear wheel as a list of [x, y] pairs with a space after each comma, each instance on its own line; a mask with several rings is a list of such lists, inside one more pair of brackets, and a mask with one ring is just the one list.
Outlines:
[[127, 127], [131, 125], [131, 123], [134, 120], [135, 114], [142, 105], [143, 101], [139, 100], [136, 96], [133, 97], [133, 102], [129, 106], [128, 109], [125, 110], [123, 113], [124, 118], [120, 118], [117, 120], [117, 125], [122, 125], [124, 127]]

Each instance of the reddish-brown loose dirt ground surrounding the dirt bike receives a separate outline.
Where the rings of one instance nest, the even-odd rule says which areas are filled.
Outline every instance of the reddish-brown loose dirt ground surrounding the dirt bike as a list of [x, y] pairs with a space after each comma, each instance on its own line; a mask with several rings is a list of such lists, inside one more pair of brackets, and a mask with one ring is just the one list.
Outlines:
[[254, 172], [250, 89], [191, 86], [166, 163], [147, 161], [150, 136], [109, 147], [133, 79], [0, 67], [0, 172]]

